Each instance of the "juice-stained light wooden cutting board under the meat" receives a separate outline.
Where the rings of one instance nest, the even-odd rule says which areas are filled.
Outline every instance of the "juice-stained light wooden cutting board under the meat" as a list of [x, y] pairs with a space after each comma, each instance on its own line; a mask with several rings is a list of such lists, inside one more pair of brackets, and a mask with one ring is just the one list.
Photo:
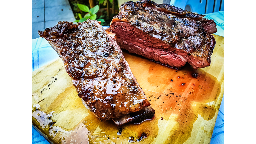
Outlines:
[[210, 143], [224, 92], [224, 37], [214, 37], [211, 66], [198, 70], [124, 52], [155, 109], [153, 120], [126, 124], [118, 135], [112, 120], [100, 122], [86, 109], [58, 59], [32, 73], [32, 124], [51, 143]]

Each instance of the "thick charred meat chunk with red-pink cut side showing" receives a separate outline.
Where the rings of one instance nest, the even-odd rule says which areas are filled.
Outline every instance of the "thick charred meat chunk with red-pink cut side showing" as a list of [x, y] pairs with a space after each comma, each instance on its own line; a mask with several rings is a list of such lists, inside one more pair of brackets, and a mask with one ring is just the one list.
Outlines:
[[210, 65], [217, 31], [213, 20], [150, 0], [126, 2], [112, 19], [111, 31], [122, 49], [180, 69]]

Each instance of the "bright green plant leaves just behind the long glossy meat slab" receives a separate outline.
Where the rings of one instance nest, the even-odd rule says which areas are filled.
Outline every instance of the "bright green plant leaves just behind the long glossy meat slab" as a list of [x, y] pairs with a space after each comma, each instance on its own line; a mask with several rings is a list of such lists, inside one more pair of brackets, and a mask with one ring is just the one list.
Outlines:
[[[91, 9], [88, 6], [83, 5], [83, 4], [77, 4], [77, 7], [81, 11], [87, 12], [87, 14], [85, 14], [84, 17], [82, 17], [82, 15], [80, 13], [78, 13], [79, 20], [75, 20], [74, 22], [84, 22], [87, 19], [96, 20], [96, 18], [97, 18], [96, 14], [100, 8], [99, 5], [96, 5], [95, 7], [91, 8]], [[101, 21], [101, 25], [103, 25], [103, 23], [105, 22], [104, 19], [97, 19], [97, 21]]]

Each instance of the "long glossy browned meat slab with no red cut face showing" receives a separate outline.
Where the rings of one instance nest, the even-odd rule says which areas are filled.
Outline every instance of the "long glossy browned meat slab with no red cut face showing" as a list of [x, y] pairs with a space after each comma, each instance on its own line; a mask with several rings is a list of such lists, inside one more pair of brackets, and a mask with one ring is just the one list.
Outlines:
[[[150, 106], [117, 43], [94, 20], [38, 31], [58, 52], [78, 96], [101, 121]], [[150, 108], [153, 117], [155, 111]]]

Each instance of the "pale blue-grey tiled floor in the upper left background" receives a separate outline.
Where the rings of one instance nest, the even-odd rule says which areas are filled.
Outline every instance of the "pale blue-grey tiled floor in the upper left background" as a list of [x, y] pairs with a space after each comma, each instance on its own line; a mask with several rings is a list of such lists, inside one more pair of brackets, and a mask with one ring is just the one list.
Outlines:
[[32, 39], [38, 30], [55, 26], [59, 21], [75, 21], [68, 0], [32, 0]]

